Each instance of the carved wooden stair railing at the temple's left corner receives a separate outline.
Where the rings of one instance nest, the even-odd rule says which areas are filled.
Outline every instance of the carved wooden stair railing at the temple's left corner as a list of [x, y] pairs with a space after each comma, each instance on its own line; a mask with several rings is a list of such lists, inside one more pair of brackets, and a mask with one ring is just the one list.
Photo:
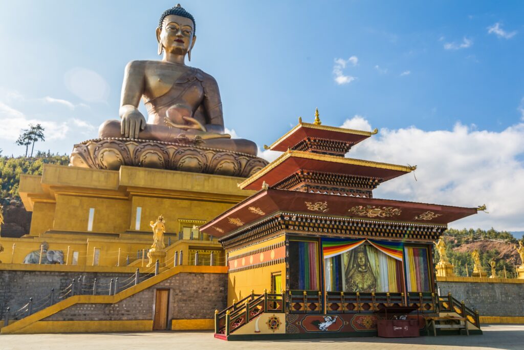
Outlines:
[[263, 312], [285, 312], [285, 299], [284, 292], [255, 294], [251, 291], [246, 298], [233, 300], [231, 306], [221, 312], [215, 311], [215, 333], [228, 336]]

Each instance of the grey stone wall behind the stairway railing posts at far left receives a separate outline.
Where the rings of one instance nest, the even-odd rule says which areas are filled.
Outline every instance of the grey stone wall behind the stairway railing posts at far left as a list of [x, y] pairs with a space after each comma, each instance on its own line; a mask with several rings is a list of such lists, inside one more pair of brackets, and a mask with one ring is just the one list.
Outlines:
[[[58, 292], [64, 290], [71, 281], [77, 281], [75, 294], [92, 294], [94, 279], [97, 279], [96, 294], [108, 294], [111, 279], [119, 279], [119, 286], [129, 283], [132, 273], [116, 272], [63, 272], [63, 271], [18, 271], [0, 270], [0, 320], [5, 310], [10, 307], [11, 312], [27, 304], [29, 297], [36, 302], [45, 298], [54, 288], [55, 299]], [[141, 277], [144, 275], [141, 274]], [[79, 284], [78, 281], [82, 284]], [[127, 280], [127, 281], [126, 281]]]

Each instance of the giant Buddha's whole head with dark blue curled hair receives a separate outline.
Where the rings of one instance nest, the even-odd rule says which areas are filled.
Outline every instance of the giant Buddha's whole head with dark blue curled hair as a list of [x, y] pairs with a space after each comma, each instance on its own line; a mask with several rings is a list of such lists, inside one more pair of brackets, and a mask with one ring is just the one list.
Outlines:
[[175, 55], [188, 54], [195, 45], [195, 20], [193, 16], [178, 4], [165, 10], [160, 16], [157, 28], [158, 54], [163, 50]]

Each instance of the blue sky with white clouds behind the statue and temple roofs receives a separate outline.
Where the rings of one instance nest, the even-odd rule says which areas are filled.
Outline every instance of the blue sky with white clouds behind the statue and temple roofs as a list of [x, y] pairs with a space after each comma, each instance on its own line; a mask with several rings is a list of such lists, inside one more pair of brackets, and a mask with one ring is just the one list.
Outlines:
[[[104, 120], [117, 119], [124, 66], [158, 59], [155, 28], [173, 5], [3, 2], [3, 154], [23, 153], [14, 139], [29, 122], [46, 126], [48, 141], [36, 149], [69, 153], [96, 137]], [[356, 156], [419, 165], [422, 179], [392, 183], [383, 197], [465, 206], [491, 200], [495, 213], [464, 225], [524, 230], [515, 194], [524, 193], [524, 2], [182, 6], [196, 19], [191, 66], [219, 82], [226, 127], [239, 137], [271, 143], [299, 115], [312, 120], [318, 107], [324, 124], [381, 130]], [[444, 171], [443, 163], [455, 165]]]

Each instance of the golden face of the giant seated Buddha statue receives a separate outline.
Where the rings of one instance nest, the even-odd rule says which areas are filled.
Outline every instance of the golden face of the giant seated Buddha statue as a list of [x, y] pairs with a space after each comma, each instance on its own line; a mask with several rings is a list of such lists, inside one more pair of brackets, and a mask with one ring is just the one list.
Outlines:
[[166, 16], [162, 28], [157, 28], [157, 40], [166, 52], [177, 55], [187, 54], [196, 40], [193, 21], [176, 15]]

